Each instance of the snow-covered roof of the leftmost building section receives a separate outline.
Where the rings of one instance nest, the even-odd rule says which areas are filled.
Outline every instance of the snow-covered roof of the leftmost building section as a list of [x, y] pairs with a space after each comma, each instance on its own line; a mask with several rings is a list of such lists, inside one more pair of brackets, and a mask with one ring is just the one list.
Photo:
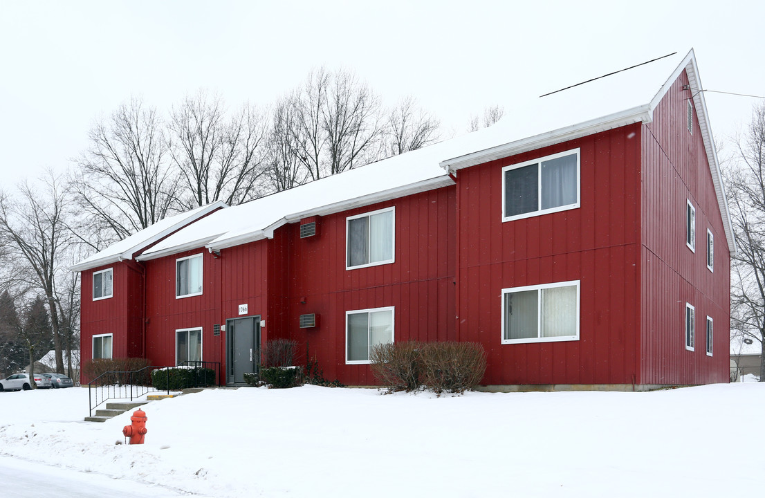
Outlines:
[[135, 252], [144, 249], [146, 246], [162, 239], [162, 237], [168, 236], [168, 234], [173, 233], [175, 230], [221, 207], [226, 207], [226, 203], [216, 201], [186, 213], [168, 216], [164, 220], [160, 220], [142, 229], [140, 232], [134, 233], [132, 236], [113, 243], [111, 246], [103, 249], [103, 251], [96, 252], [96, 254], [83, 259], [77, 265], [73, 265], [71, 270], [73, 272], [82, 272], [86, 269], [122, 261], [122, 259], [132, 259]]

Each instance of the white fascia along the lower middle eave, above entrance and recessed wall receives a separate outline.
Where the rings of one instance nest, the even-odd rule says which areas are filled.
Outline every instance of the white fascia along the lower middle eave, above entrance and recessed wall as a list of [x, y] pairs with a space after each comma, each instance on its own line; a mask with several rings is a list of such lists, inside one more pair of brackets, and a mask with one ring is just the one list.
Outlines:
[[297, 223], [303, 218], [308, 218], [309, 216], [327, 216], [328, 214], [340, 213], [340, 211], [350, 210], [354, 207], [367, 206], [373, 203], [385, 202], [386, 200], [398, 199], [399, 197], [418, 194], [419, 192], [426, 192], [428, 190], [435, 190], [441, 187], [448, 187], [449, 185], [454, 185], [454, 181], [451, 179], [451, 177], [444, 174], [443, 176], [418, 181], [415, 184], [383, 190], [382, 192], [375, 192], [374, 194], [355, 197], [353, 199], [341, 200], [337, 203], [331, 203], [327, 204], [326, 206], [317, 207], [315, 209], [301, 211], [300, 213], [288, 214], [282, 219], [275, 221], [269, 226], [266, 226], [264, 229], [255, 230], [249, 233], [243, 233], [229, 239], [221, 239], [220, 241], [210, 243], [205, 247], [211, 251], [218, 251], [220, 249], [226, 249], [227, 247], [240, 246], [248, 242], [256, 242], [257, 240], [261, 239], [273, 239], [274, 232], [280, 226], [284, 226], [287, 223]]

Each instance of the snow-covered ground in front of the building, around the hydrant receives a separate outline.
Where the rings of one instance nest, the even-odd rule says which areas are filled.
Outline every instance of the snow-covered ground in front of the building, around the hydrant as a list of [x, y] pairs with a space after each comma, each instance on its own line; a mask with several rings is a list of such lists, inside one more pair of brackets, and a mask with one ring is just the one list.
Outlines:
[[[83, 422], [86, 389], [0, 393], [0, 455], [202, 496], [760, 496], [765, 383], [658, 392], [214, 389]], [[5, 459], [0, 459], [0, 466]], [[747, 470], [749, 469], [749, 470]], [[142, 488], [145, 489], [145, 488]], [[160, 493], [157, 493], [160, 494]]]

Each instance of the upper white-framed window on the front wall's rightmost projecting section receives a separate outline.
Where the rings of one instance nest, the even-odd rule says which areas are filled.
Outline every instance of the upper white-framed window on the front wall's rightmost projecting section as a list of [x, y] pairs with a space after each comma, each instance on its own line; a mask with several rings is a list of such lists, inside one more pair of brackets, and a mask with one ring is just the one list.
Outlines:
[[579, 207], [579, 149], [502, 168], [503, 221]]

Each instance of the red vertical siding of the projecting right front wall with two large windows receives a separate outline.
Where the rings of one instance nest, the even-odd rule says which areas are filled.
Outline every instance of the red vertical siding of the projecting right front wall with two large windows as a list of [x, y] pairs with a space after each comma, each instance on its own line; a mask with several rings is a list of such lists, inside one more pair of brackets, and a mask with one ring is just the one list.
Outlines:
[[[573, 148], [581, 207], [503, 223], [502, 168]], [[639, 166], [640, 125], [630, 125], [460, 171], [457, 333], [487, 350], [483, 382], [634, 382]], [[580, 281], [580, 340], [501, 343], [503, 288], [570, 280]]]

